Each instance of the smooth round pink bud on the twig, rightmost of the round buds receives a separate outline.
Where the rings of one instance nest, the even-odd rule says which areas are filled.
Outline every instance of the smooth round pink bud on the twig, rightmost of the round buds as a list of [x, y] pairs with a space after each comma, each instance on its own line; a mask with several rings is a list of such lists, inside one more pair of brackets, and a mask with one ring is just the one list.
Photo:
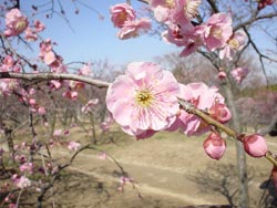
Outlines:
[[243, 139], [245, 152], [253, 157], [264, 157], [267, 153], [267, 144], [263, 136], [253, 134]]

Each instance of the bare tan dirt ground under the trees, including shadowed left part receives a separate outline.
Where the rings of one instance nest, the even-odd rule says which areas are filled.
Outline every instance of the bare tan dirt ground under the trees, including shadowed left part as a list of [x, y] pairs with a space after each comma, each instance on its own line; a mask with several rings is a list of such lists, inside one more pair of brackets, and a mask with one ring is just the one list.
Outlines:
[[[111, 148], [105, 147], [134, 179], [135, 189], [126, 184], [124, 193], [117, 190], [121, 171], [115, 163], [111, 158], [100, 159], [96, 152], [84, 150], [68, 167], [72, 175], [65, 175], [64, 180], [55, 185], [57, 189], [62, 189], [57, 190], [59, 194], [53, 196], [54, 201], [60, 201], [61, 206], [58, 207], [62, 208], [182, 208], [188, 205], [227, 205], [226, 198], [218, 191], [211, 191], [208, 187], [201, 190], [199, 183], [193, 180], [192, 176], [198, 173], [208, 175], [209, 169], [218, 166], [236, 166], [234, 142], [227, 142], [227, 150], [220, 160], [208, 158], [202, 142], [201, 138], [170, 137], [131, 141]], [[277, 153], [277, 143], [274, 139], [268, 141], [268, 145]], [[65, 148], [55, 148], [53, 152], [53, 157], [60, 158], [61, 164], [66, 163], [73, 154]], [[250, 195], [254, 200], [258, 200], [263, 191], [259, 186], [268, 178], [271, 164], [265, 158], [250, 157], [247, 157], [247, 164], [252, 176]], [[113, 196], [106, 194], [106, 197], [105, 193], [99, 195], [95, 193], [98, 186], [103, 186]]]

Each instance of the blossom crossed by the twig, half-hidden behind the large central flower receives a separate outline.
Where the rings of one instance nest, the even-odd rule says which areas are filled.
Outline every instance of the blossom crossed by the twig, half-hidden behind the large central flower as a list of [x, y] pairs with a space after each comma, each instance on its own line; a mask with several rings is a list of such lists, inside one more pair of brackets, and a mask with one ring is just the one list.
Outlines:
[[[179, 87], [181, 93], [178, 97], [192, 103], [199, 110], [208, 111], [215, 104], [224, 104], [224, 97], [218, 93], [217, 87], [208, 87], [202, 82], [187, 85], [179, 84]], [[177, 119], [168, 129], [174, 131], [177, 128], [183, 129], [186, 135], [191, 136], [209, 131], [209, 125], [199, 117], [181, 110]]]

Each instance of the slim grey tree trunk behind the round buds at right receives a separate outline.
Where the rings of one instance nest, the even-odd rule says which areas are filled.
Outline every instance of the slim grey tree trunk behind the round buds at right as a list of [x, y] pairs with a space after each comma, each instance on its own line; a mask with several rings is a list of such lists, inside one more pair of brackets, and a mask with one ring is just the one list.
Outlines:
[[[227, 81], [223, 85], [226, 93], [226, 98], [228, 107], [232, 113], [232, 124], [237, 132], [242, 132], [242, 126], [239, 117], [237, 115], [237, 110], [234, 102], [234, 96], [232, 92], [230, 83]], [[247, 178], [247, 165], [246, 165], [246, 155], [244, 152], [244, 146], [240, 142], [236, 142], [237, 148], [237, 169], [238, 169], [238, 179], [239, 179], [239, 198], [238, 198], [238, 208], [248, 208], [249, 207], [249, 196], [248, 196], [248, 178]]]

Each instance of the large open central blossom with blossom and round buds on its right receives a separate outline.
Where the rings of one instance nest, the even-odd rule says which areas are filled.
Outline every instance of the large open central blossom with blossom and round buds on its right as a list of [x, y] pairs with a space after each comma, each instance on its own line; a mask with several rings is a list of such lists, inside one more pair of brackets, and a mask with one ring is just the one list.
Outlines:
[[[222, 124], [232, 117], [217, 87], [178, 83], [170, 71], [152, 62], [130, 63], [125, 74], [116, 77], [106, 93], [107, 110], [125, 133], [143, 139], [160, 131], [181, 129], [187, 136], [212, 132], [203, 147], [209, 157], [219, 159], [226, 149], [219, 132], [184, 110], [179, 100]], [[265, 139], [259, 135], [246, 136], [243, 142], [246, 153], [254, 157], [267, 153]]]

